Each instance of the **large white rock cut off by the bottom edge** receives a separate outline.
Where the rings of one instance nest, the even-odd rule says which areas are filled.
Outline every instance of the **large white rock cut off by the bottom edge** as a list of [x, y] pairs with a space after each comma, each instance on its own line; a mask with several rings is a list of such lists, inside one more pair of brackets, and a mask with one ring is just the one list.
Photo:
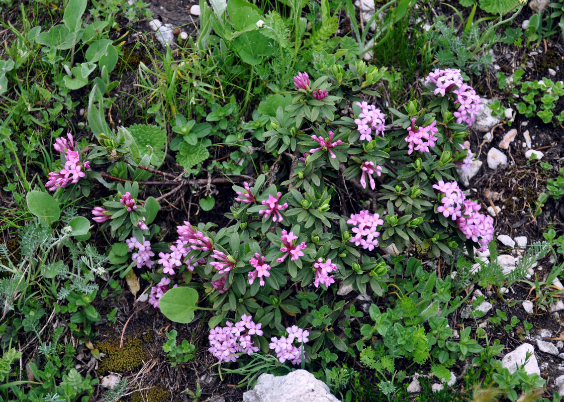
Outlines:
[[285, 376], [261, 374], [252, 391], [243, 394], [243, 402], [339, 402], [327, 385], [306, 370]]

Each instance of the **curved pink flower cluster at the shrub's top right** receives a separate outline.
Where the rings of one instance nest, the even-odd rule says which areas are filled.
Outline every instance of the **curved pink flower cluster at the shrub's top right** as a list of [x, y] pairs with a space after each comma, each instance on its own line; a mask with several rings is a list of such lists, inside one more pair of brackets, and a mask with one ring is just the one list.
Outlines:
[[457, 118], [457, 123], [464, 122], [469, 127], [474, 124], [478, 112], [482, 109], [480, 105], [482, 99], [471, 86], [466, 85], [462, 81], [460, 70], [452, 68], [447, 68], [446, 70], [436, 69], [433, 73], [429, 73], [425, 79], [425, 85], [428, 85], [429, 82], [437, 85], [434, 91], [435, 95], [445, 96], [446, 92], [451, 90], [456, 95], [455, 103], [459, 104], [459, 108], [453, 114]]

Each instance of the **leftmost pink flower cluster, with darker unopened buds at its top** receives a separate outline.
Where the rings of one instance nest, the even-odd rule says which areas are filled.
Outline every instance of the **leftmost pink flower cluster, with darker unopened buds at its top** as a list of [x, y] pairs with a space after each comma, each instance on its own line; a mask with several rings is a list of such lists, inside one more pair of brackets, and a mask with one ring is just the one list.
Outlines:
[[82, 163], [80, 161], [80, 154], [78, 151], [74, 151], [77, 143], [73, 142], [70, 132], [67, 134], [67, 137], [68, 141], [65, 138], [58, 138], [53, 145], [55, 151], [65, 154], [65, 166], [60, 171], [49, 173], [49, 180], [45, 183], [45, 187], [49, 191], [67, 187], [70, 183], [78, 183], [81, 177], [86, 176], [84, 170], [90, 167], [90, 162]]

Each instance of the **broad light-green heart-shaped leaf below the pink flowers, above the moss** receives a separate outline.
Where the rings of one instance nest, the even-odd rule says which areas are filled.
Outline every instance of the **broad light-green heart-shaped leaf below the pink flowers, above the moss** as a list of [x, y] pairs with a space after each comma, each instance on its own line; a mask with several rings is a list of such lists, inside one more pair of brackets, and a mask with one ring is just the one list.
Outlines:
[[188, 324], [194, 319], [194, 310], [198, 308], [198, 292], [181, 286], [166, 291], [158, 300], [161, 312], [171, 321]]

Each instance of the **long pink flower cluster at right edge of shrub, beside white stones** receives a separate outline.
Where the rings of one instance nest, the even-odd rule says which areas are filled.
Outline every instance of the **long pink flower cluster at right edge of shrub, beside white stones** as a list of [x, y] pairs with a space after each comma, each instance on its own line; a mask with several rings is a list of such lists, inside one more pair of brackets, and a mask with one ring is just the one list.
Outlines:
[[456, 182], [443, 182], [434, 184], [433, 188], [444, 194], [437, 208], [445, 218], [456, 220], [460, 231], [467, 239], [478, 243], [478, 251], [486, 251], [487, 246], [493, 239], [493, 218], [489, 215], [479, 213], [481, 206], [475, 201], [466, 200], [466, 196]]

